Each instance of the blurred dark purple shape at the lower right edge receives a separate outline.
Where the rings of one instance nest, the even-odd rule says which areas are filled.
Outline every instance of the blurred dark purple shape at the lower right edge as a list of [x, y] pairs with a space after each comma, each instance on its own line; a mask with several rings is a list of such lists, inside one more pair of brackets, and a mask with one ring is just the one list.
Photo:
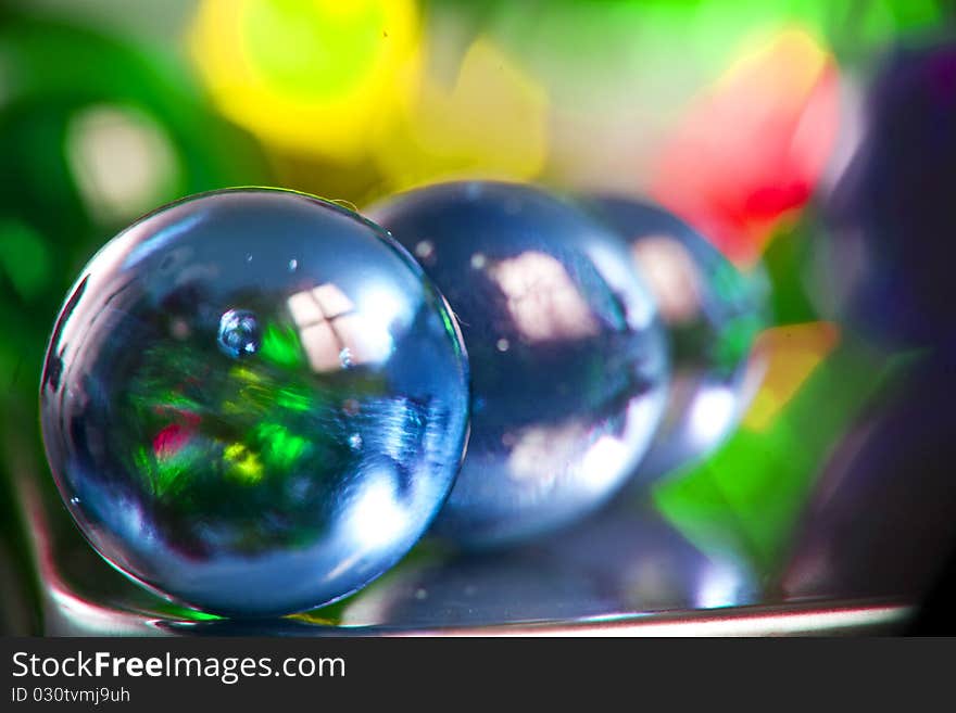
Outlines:
[[918, 359], [830, 454], [795, 533], [792, 597], [921, 597], [956, 542], [952, 366]]

